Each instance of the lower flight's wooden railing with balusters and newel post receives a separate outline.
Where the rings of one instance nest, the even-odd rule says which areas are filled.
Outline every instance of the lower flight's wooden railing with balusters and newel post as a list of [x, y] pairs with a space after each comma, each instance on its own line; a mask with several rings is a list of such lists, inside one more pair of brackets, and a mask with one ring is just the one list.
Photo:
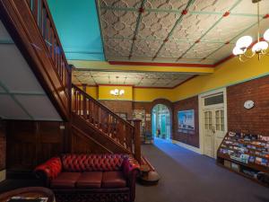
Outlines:
[[91, 134], [91, 138], [105, 145], [110, 152], [134, 154], [141, 162], [140, 120], [132, 122], [133, 125], [72, 85], [71, 127]]

